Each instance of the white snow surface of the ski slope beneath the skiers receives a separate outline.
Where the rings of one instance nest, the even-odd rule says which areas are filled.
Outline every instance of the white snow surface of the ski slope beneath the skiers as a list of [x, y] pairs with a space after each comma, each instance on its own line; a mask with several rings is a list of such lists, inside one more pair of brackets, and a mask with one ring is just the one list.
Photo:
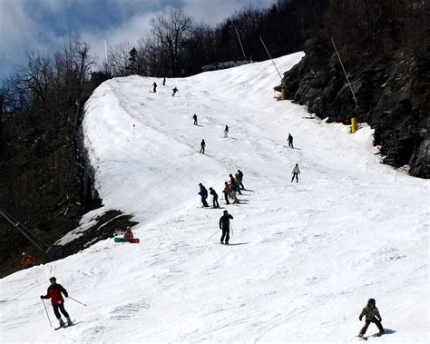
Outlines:
[[[276, 63], [286, 71], [302, 56]], [[0, 280], [0, 341], [353, 342], [375, 298], [389, 330], [370, 341], [428, 342], [428, 181], [381, 164], [370, 128], [351, 135], [277, 102], [276, 84], [263, 62], [97, 88], [83, 127], [105, 207], [83, 229], [120, 209], [140, 221], [141, 243], [100, 241]], [[289, 180], [295, 163], [299, 183]], [[222, 210], [200, 208], [198, 184], [221, 199], [238, 168], [249, 191], [227, 206], [235, 246], [226, 247], [209, 239]], [[87, 304], [66, 300], [73, 328], [49, 327], [39, 295], [52, 275]]]

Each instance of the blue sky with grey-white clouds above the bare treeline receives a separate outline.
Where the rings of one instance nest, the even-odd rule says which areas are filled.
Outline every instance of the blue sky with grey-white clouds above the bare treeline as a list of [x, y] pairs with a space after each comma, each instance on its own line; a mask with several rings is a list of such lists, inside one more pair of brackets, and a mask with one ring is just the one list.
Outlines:
[[99, 60], [110, 46], [135, 43], [150, 31], [151, 18], [169, 6], [193, 19], [219, 24], [247, 5], [273, 0], [0, 0], [0, 79], [25, 64], [26, 54], [52, 53], [68, 34], [79, 33]]

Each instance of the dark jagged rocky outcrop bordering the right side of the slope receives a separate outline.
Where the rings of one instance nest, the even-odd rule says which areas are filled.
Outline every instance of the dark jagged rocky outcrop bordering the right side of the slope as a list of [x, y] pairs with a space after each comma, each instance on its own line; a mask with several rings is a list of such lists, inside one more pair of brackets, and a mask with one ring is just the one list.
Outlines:
[[[306, 56], [284, 75], [287, 97], [329, 122], [358, 122], [375, 128], [375, 145], [384, 162], [409, 165], [412, 175], [430, 176], [428, 150], [430, 54], [397, 51], [390, 56], [364, 54], [346, 64], [356, 104], [333, 46], [324, 38], [305, 44]], [[279, 86], [278, 86], [279, 87]]]

